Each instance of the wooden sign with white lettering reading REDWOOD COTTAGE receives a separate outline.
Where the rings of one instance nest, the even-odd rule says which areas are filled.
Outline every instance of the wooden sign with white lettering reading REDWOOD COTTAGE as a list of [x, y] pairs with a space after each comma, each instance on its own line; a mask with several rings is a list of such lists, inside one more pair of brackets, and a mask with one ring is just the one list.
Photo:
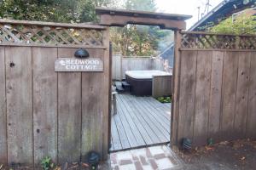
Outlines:
[[103, 71], [102, 59], [59, 58], [55, 60], [55, 71]]

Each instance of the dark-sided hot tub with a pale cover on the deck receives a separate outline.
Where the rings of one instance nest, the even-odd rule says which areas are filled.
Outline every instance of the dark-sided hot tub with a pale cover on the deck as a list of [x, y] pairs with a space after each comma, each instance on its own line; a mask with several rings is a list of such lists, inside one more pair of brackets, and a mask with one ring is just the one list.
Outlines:
[[171, 75], [165, 71], [125, 71], [125, 80], [131, 85], [131, 94], [148, 96], [152, 95], [153, 76]]

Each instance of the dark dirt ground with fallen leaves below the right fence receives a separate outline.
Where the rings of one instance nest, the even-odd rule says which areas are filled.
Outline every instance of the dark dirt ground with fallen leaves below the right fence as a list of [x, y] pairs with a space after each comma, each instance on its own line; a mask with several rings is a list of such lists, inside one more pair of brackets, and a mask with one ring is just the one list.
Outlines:
[[184, 170], [255, 170], [256, 141], [249, 139], [221, 142], [190, 152], [174, 150]]

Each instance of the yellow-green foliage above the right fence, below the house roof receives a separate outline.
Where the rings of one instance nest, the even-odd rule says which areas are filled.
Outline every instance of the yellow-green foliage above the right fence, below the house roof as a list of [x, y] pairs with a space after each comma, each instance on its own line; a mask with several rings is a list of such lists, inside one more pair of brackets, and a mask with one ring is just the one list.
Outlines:
[[244, 12], [236, 18], [230, 17], [221, 21], [217, 26], [213, 26], [210, 31], [236, 35], [256, 34], [256, 16]]

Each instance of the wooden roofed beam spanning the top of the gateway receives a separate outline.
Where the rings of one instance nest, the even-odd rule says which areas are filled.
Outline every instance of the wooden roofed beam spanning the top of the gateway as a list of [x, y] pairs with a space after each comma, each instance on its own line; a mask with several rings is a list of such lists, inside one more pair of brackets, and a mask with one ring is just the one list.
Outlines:
[[127, 24], [160, 26], [161, 29], [185, 30], [190, 15], [153, 13], [136, 10], [96, 8], [102, 26], [125, 26]]

